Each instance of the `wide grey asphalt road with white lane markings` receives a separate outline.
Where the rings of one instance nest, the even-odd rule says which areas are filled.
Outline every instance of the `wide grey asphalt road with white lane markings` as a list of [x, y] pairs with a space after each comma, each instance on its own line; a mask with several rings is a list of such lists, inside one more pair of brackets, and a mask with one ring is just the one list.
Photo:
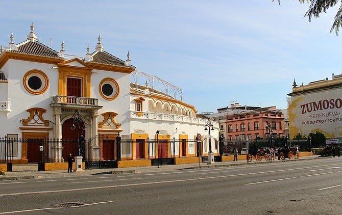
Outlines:
[[[156, 167], [153, 171], [127, 174], [65, 173], [68, 177], [0, 181], [3, 205], [0, 211], [29, 209], [25, 214], [342, 212], [341, 158], [258, 164], [183, 170]], [[71, 203], [83, 206], [57, 209]]]

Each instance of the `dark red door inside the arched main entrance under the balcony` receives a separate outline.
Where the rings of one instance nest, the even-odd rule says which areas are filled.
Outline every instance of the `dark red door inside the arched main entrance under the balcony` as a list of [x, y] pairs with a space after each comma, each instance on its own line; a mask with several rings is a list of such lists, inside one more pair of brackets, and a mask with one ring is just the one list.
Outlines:
[[[72, 154], [72, 157], [77, 155], [78, 137], [85, 138], [85, 131], [82, 129], [84, 123], [80, 122], [79, 125], [77, 123], [74, 123], [76, 128], [74, 130], [71, 130], [72, 120], [73, 119], [67, 119], [62, 125], [62, 147], [64, 162], [66, 162], [69, 153]], [[82, 140], [80, 140], [80, 148], [81, 152], [84, 151], [82, 150]]]

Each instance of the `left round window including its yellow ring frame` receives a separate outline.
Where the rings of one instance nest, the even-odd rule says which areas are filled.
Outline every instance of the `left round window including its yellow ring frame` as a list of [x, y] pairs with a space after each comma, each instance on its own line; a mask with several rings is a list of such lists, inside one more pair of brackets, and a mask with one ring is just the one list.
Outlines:
[[23, 79], [25, 89], [35, 95], [44, 93], [48, 88], [48, 78], [46, 74], [40, 70], [28, 71]]

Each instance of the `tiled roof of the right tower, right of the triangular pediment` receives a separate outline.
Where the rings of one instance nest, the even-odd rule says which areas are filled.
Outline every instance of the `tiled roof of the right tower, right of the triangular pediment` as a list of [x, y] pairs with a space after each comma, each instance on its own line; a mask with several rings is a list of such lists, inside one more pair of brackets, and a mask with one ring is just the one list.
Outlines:
[[127, 68], [135, 68], [132, 65], [125, 65], [125, 61], [112, 56], [110, 53], [106, 51], [99, 51], [96, 50], [91, 53], [91, 57], [93, 57], [92, 63], [99, 63], [99, 64], [106, 64], [106, 65], [113, 65], [113, 66], [121, 66]]

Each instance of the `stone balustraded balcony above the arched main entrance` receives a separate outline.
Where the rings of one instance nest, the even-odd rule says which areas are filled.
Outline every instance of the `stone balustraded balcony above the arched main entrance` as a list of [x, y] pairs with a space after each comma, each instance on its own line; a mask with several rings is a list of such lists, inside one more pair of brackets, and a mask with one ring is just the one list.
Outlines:
[[65, 106], [70, 108], [82, 108], [82, 109], [101, 109], [99, 106], [99, 99], [97, 98], [85, 98], [77, 96], [54, 96], [52, 97], [51, 106]]

